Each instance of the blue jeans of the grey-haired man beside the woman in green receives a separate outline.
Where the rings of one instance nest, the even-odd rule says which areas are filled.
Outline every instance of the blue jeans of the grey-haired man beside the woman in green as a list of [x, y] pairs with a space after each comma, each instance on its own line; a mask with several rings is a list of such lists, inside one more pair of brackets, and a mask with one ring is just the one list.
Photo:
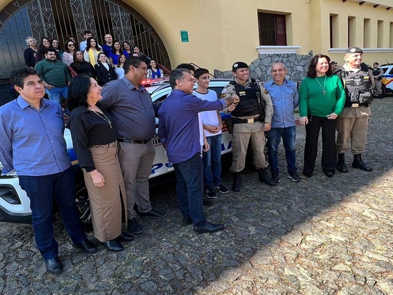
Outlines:
[[269, 165], [272, 173], [279, 173], [279, 157], [277, 151], [282, 138], [285, 148], [286, 168], [288, 172], [296, 172], [296, 126], [286, 128], [271, 128], [267, 133], [267, 146], [269, 150]]

